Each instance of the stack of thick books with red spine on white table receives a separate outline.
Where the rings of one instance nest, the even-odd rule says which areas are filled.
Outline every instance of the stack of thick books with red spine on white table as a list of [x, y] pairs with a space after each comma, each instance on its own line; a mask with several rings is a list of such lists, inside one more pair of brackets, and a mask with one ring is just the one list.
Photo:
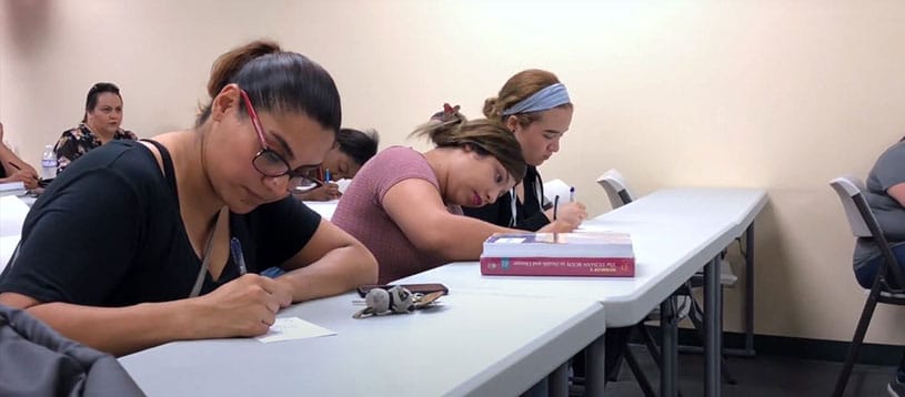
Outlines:
[[624, 232], [496, 234], [484, 241], [481, 274], [634, 277], [632, 236]]

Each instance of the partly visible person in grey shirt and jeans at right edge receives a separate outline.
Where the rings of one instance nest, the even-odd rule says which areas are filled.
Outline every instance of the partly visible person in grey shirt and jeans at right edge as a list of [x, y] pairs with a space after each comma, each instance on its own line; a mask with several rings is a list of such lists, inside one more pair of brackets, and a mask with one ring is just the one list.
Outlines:
[[[865, 185], [864, 198], [889, 241], [898, 264], [905, 269], [905, 139], [879, 155]], [[858, 238], [853, 264], [855, 278], [862, 287], [869, 289], [873, 286], [882, 263], [883, 255], [873, 240]], [[892, 396], [905, 397], [905, 355], [887, 389]]]

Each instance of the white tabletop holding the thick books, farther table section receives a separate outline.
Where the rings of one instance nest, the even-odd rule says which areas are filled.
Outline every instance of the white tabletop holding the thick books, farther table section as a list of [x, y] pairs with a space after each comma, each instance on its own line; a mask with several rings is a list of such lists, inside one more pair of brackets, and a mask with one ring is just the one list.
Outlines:
[[394, 284], [443, 283], [452, 292], [595, 299], [606, 307], [607, 326], [630, 326], [737, 237], [740, 223], [753, 221], [765, 200], [762, 190], [665, 190], [585, 222], [584, 231], [631, 233], [632, 278], [483, 276], [477, 262], [462, 262]]

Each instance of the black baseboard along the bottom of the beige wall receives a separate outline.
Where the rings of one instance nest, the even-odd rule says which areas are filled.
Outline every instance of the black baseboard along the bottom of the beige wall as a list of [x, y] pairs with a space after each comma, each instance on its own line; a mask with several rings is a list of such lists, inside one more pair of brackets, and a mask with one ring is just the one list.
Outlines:
[[[657, 327], [651, 327], [655, 337], [660, 338]], [[633, 340], [637, 335], [633, 335]], [[641, 343], [641, 340], [635, 340]], [[680, 328], [678, 344], [685, 346], [700, 346], [701, 339], [694, 329]], [[727, 348], [744, 348], [745, 334], [735, 332], [723, 333], [723, 346]], [[816, 359], [824, 362], [844, 362], [848, 353], [848, 342], [810, 339], [790, 336], [754, 335], [754, 349], [757, 356], [794, 357], [802, 359]], [[855, 363], [869, 365], [896, 366], [902, 362], [905, 346], [863, 344]]]

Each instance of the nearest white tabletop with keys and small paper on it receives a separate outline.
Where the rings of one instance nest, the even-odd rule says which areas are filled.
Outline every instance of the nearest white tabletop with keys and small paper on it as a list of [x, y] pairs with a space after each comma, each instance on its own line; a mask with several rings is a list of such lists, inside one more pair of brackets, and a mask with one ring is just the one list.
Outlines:
[[353, 319], [355, 294], [280, 313], [338, 333], [262, 344], [175, 342], [120, 358], [151, 396], [517, 395], [602, 335], [603, 306], [454, 292], [408, 315]]

